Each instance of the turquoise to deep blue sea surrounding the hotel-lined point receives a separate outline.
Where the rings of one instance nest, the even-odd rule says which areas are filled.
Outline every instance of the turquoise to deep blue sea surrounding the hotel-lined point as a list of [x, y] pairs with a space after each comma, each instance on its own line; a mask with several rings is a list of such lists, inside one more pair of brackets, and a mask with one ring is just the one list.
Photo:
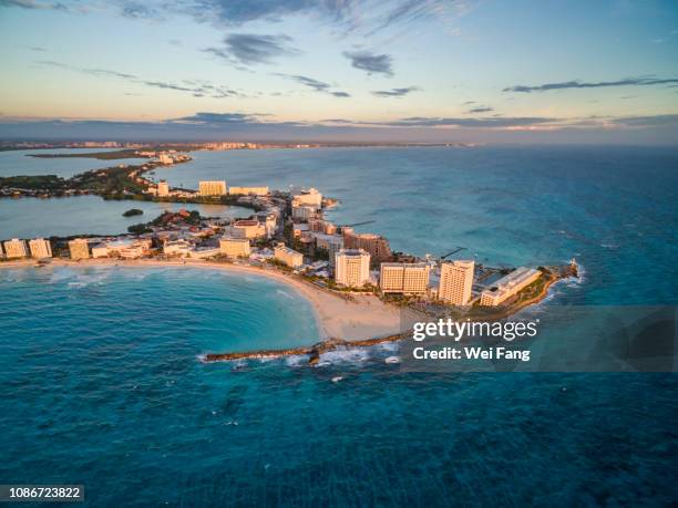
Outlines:
[[[374, 220], [361, 229], [396, 249], [576, 256], [585, 276], [530, 311], [544, 320], [567, 305], [676, 305], [678, 149], [194, 155], [163, 177], [315, 185], [342, 200], [336, 221]], [[203, 364], [205, 351], [306, 343], [315, 328], [286, 288], [196, 270], [0, 271], [0, 301], [2, 483], [83, 483], [91, 506], [678, 499], [672, 373], [404, 372], [379, 348], [315, 369]], [[534, 348], [598, 332], [551, 324]]]

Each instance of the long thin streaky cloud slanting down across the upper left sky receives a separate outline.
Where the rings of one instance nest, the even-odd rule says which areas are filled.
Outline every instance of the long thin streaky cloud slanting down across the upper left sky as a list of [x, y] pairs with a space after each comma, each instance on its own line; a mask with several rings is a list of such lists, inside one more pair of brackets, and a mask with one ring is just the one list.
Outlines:
[[111, 71], [109, 69], [94, 69], [94, 68], [79, 68], [74, 65], [69, 65], [61, 62], [54, 62], [50, 60], [37, 61], [35, 63], [40, 65], [49, 65], [58, 69], [63, 69], [71, 72], [79, 72], [81, 74], [88, 74], [95, 77], [114, 77], [120, 80], [125, 80], [133, 84], [138, 84], [143, 86], [148, 86], [153, 89], [162, 89], [162, 90], [172, 90], [175, 92], [185, 92], [189, 93], [194, 97], [204, 97], [209, 96], [212, 99], [225, 99], [225, 97], [238, 97], [245, 96], [240, 92], [222, 86], [215, 85], [207, 81], [184, 81], [184, 84], [166, 82], [166, 81], [154, 81], [154, 80], [145, 80], [134, 74], [129, 74], [125, 72]]

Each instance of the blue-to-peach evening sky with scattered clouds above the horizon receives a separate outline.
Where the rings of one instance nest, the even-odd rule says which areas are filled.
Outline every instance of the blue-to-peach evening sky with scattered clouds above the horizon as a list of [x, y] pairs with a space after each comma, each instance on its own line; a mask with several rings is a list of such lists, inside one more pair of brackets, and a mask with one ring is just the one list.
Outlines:
[[0, 0], [0, 139], [678, 144], [678, 2]]

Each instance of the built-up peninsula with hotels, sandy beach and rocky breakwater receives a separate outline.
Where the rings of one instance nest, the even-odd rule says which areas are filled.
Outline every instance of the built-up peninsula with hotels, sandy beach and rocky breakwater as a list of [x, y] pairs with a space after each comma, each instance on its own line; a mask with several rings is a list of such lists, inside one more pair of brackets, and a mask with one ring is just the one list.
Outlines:
[[[315, 188], [280, 191], [213, 180], [199, 182], [197, 190], [177, 189], [144, 178], [147, 167], [120, 168], [137, 185], [137, 194], [123, 193], [121, 198], [237, 204], [254, 214], [219, 219], [179, 210], [132, 226], [129, 235], [52, 237], [28, 245], [11, 239], [2, 245], [0, 266], [25, 266], [37, 259], [39, 266], [222, 269], [275, 278], [312, 304], [321, 342], [309, 338], [308, 343], [316, 344], [300, 349], [209, 353], [203, 357], [206, 362], [305, 354], [314, 363], [322, 352], [347, 345], [401, 340], [415, 321], [503, 320], [544, 299], [558, 280], [577, 276], [574, 259], [563, 266], [493, 268], [473, 259], [451, 259], [465, 251], [463, 247], [440, 257], [392, 251], [387, 238], [356, 231], [371, 221], [327, 220], [325, 210], [337, 199]], [[103, 170], [102, 178], [111, 170]]]

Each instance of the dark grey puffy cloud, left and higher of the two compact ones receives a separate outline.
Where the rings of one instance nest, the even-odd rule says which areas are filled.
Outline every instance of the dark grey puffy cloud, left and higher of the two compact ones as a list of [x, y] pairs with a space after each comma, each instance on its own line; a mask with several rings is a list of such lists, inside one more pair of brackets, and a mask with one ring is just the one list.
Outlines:
[[278, 56], [295, 55], [299, 51], [291, 48], [288, 35], [257, 35], [254, 33], [232, 33], [224, 39], [224, 48], [206, 48], [212, 53], [229, 62], [246, 65], [271, 63]]

